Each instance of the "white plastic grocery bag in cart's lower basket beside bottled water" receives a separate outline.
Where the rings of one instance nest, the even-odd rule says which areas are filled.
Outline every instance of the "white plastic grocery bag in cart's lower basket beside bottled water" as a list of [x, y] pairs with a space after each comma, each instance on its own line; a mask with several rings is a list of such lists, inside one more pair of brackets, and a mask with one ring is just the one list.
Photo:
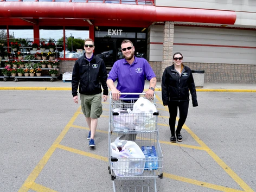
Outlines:
[[[117, 149], [117, 142], [121, 142], [123, 150]], [[112, 162], [112, 169], [116, 176], [135, 176], [143, 173], [145, 168], [145, 155], [140, 147], [130, 140], [116, 140], [111, 143], [112, 157], [118, 159]]]

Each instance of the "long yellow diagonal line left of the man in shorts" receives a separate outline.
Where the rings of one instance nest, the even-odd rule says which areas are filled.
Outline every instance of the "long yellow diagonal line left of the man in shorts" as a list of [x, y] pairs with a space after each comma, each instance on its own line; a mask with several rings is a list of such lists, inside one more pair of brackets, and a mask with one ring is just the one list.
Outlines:
[[34, 184], [36, 178], [39, 176], [40, 172], [48, 162], [50, 156], [53, 155], [53, 152], [57, 148], [57, 145], [61, 142], [61, 140], [65, 137], [66, 133], [68, 132], [69, 128], [73, 125], [75, 119], [79, 115], [79, 111], [81, 111], [81, 106], [76, 110], [74, 116], [71, 118], [71, 120], [68, 122], [68, 124], [65, 126], [65, 128], [62, 130], [60, 135], [57, 137], [57, 139], [54, 141], [53, 145], [50, 146], [46, 154], [42, 157], [42, 159], [39, 161], [39, 163], [36, 165], [35, 169], [31, 172], [31, 174], [28, 176], [27, 180], [23, 183], [22, 187], [19, 192], [28, 191], [31, 189], [31, 186]]

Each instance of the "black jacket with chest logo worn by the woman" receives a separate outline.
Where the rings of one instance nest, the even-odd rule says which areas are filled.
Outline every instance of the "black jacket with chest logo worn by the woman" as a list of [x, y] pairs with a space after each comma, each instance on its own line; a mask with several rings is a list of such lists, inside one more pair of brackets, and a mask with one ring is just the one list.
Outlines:
[[193, 107], [198, 106], [196, 87], [191, 69], [183, 65], [180, 75], [174, 69], [174, 65], [165, 68], [162, 76], [163, 105], [168, 105], [169, 101], [188, 101], [189, 91], [191, 93]]

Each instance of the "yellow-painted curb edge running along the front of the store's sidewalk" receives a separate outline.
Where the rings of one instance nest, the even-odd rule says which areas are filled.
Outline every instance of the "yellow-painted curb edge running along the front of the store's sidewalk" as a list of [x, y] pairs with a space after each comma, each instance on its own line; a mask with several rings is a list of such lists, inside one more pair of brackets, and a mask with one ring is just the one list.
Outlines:
[[[0, 87], [0, 90], [49, 90], [49, 91], [71, 91], [71, 87]], [[148, 89], [144, 89], [144, 92]], [[155, 91], [162, 91], [162, 88], [155, 88]], [[250, 92], [256, 93], [256, 89], [201, 89], [196, 88], [197, 92]]]

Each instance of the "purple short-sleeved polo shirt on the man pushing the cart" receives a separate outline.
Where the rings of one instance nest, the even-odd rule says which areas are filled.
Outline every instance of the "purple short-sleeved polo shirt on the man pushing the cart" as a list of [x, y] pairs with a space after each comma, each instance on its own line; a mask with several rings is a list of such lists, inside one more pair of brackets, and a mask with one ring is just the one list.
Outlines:
[[[107, 79], [117, 80], [117, 89], [122, 93], [142, 93], [145, 79], [155, 78], [156, 75], [144, 58], [136, 57], [130, 65], [125, 59], [116, 61]], [[137, 98], [138, 95], [121, 95], [120, 98]]]

